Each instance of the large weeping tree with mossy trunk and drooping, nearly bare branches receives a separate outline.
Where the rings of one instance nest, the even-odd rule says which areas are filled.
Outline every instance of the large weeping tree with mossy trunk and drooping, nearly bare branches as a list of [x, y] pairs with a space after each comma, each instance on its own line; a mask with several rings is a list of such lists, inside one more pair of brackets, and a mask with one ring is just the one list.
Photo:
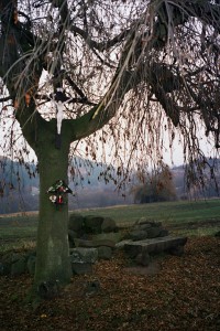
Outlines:
[[72, 277], [68, 205], [46, 192], [81, 139], [94, 159], [113, 142], [119, 177], [160, 161], [166, 132], [190, 161], [198, 129], [219, 147], [219, 18], [217, 0], [0, 0], [1, 147], [22, 161], [21, 132], [38, 161], [36, 287]]

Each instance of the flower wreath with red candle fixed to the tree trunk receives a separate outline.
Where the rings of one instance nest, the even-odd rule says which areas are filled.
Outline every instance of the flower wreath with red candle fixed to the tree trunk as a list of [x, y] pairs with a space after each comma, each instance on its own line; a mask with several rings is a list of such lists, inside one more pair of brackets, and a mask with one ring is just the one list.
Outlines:
[[62, 206], [63, 204], [66, 204], [65, 195], [67, 193], [73, 194], [73, 191], [67, 186], [65, 181], [57, 180], [51, 188], [48, 188], [47, 193], [53, 193], [50, 195], [52, 203], [54, 203], [56, 206]]

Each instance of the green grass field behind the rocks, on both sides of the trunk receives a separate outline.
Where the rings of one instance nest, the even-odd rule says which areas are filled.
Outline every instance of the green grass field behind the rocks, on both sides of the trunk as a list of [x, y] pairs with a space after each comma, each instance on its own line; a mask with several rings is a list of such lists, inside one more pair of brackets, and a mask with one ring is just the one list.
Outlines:
[[[220, 200], [164, 202], [78, 210], [82, 215], [112, 217], [120, 227], [130, 226], [140, 217], [160, 221], [164, 227], [185, 235], [211, 235], [220, 229]], [[72, 213], [72, 212], [70, 212]], [[11, 244], [32, 245], [36, 237], [37, 213], [0, 215], [0, 250]]]

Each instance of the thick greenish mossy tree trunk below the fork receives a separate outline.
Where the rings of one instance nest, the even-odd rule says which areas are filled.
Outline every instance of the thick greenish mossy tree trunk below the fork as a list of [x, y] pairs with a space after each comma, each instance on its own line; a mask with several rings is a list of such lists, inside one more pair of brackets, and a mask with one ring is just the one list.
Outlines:
[[68, 146], [56, 149], [46, 143], [38, 157], [40, 215], [37, 229], [34, 288], [42, 282], [70, 281], [72, 268], [67, 235], [68, 204], [57, 206], [50, 201], [47, 190], [57, 180], [67, 183]]

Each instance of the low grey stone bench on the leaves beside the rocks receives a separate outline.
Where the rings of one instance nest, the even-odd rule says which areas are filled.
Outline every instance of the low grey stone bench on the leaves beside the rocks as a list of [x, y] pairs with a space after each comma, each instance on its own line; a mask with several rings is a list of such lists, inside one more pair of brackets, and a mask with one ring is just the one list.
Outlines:
[[187, 237], [158, 237], [153, 239], [144, 239], [138, 242], [125, 242], [124, 252], [135, 259], [140, 265], [148, 265], [150, 255], [158, 253], [169, 253], [173, 255], [182, 256], [184, 254], [184, 246], [187, 242]]

